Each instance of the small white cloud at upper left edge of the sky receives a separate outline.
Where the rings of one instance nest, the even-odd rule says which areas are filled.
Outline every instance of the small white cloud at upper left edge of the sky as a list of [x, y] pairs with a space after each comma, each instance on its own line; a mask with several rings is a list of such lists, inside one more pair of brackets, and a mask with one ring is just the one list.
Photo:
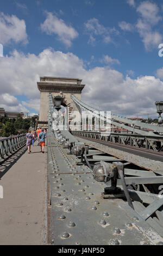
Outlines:
[[0, 13], [0, 43], [5, 45], [14, 41], [27, 44], [26, 23], [18, 19], [15, 15], [5, 15]]

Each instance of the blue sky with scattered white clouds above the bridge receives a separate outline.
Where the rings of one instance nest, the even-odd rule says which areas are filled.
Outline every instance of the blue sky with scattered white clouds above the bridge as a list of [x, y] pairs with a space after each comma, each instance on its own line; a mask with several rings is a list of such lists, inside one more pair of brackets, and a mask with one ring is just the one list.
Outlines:
[[156, 116], [162, 100], [162, 1], [1, 1], [0, 105], [39, 113], [39, 76], [82, 78], [83, 101]]

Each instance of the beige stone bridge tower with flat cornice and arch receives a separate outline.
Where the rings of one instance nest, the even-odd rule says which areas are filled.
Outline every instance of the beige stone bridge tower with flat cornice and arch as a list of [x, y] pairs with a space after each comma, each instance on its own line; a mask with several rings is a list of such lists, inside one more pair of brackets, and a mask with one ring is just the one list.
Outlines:
[[71, 112], [78, 111], [71, 99], [71, 94], [74, 94], [78, 99], [81, 98], [81, 93], [85, 84], [81, 84], [82, 79], [66, 78], [66, 77], [40, 77], [40, 82], [37, 82], [37, 87], [40, 90], [40, 115], [39, 126], [46, 126], [48, 123], [48, 95], [51, 92], [52, 96], [64, 96], [63, 106], [68, 108], [68, 117], [71, 119]]

